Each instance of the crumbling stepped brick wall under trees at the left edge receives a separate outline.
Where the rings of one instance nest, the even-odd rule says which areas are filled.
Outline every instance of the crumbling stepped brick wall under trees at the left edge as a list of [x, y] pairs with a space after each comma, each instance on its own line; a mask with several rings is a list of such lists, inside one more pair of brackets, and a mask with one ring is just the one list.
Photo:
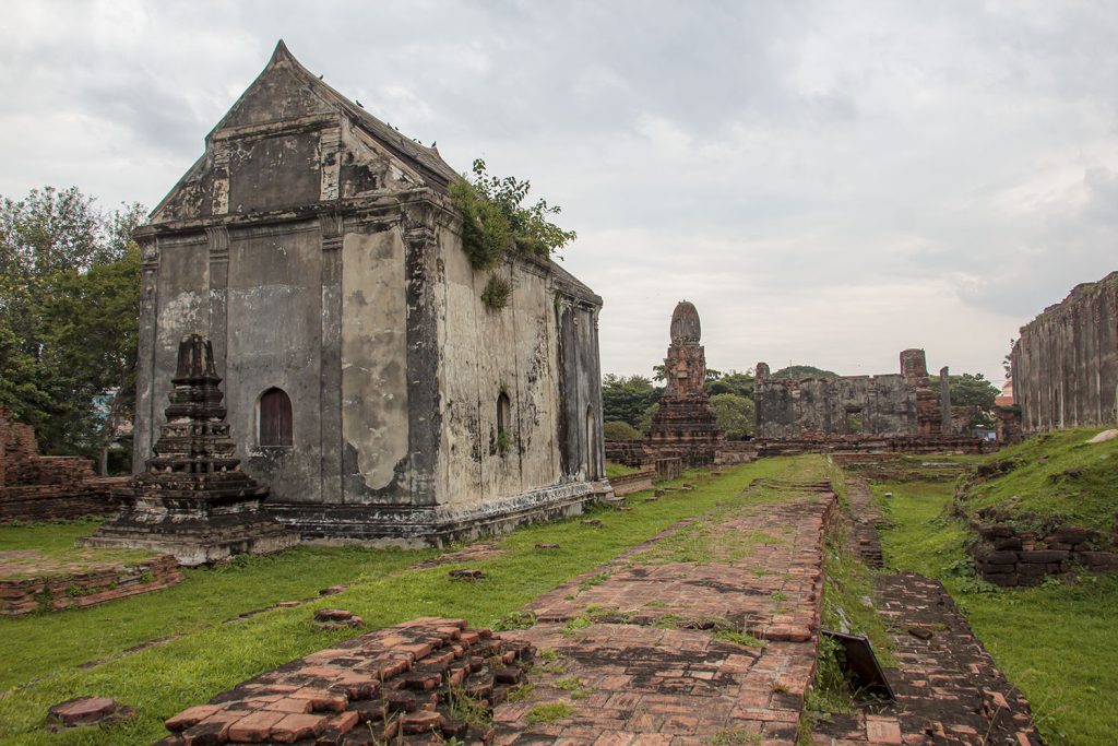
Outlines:
[[126, 478], [97, 478], [77, 456], [40, 456], [35, 431], [0, 407], [0, 521], [108, 513]]

